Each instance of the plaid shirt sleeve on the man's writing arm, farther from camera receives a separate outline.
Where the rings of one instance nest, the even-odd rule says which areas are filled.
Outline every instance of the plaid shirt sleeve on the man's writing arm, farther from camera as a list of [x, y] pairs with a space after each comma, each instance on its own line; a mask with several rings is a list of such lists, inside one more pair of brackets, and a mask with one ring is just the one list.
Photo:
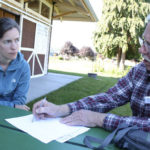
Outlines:
[[106, 93], [99, 93], [88, 96], [76, 102], [69, 103], [71, 112], [86, 109], [96, 112], [108, 112], [113, 108], [124, 105], [130, 101], [133, 83], [132, 83], [133, 69], [118, 83], [110, 88]]

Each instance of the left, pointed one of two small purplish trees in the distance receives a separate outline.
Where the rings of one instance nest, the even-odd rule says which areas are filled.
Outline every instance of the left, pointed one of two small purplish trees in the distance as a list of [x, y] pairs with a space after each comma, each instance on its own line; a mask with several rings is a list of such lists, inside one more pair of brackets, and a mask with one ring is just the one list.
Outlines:
[[67, 56], [75, 56], [78, 52], [78, 48], [76, 48], [70, 41], [66, 42], [60, 50], [60, 54]]

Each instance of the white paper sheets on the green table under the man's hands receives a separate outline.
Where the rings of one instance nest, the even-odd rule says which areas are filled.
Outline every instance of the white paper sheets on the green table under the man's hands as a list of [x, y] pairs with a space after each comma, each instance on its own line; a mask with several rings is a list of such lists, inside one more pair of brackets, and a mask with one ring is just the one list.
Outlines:
[[62, 124], [59, 122], [61, 118], [48, 118], [34, 122], [32, 122], [32, 119], [33, 115], [31, 114], [5, 120], [44, 143], [56, 139], [58, 139], [59, 142], [65, 142], [66, 140], [89, 130], [89, 128], [82, 126], [67, 126]]

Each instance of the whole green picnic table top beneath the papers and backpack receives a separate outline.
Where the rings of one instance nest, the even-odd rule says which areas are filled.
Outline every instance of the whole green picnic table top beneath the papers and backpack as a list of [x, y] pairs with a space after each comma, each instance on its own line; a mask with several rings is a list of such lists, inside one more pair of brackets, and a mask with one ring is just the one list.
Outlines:
[[[7, 121], [6, 118], [19, 117], [24, 115], [29, 115], [31, 112], [27, 112], [20, 109], [14, 109], [10, 107], [0, 106], [0, 149], [14, 149], [14, 150], [88, 150], [88, 148], [82, 147], [78, 144], [83, 144], [83, 139], [86, 135], [94, 136], [104, 139], [109, 132], [101, 128], [91, 128], [89, 131], [72, 138], [66, 143], [59, 143], [52, 141], [48, 144], [42, 143], [39, 140], [33, 138], [32, 136], [19, 132], [17, 130], [12, 130], [10, 128], [15, 128]], [[6, 126], [8, 128], [2, 127]], [[70, 144], [74, 143], [74, 144]], [[76, 145], [77, 144], [77, 145]], [[114, 145], [110, 145], [106, 150], [119, 150], [119, 148]]]

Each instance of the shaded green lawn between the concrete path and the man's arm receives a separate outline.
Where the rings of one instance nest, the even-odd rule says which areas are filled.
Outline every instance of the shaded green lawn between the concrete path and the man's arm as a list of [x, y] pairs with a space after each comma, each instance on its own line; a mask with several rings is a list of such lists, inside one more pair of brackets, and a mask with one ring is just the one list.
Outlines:
[[[72, 82], [52, 93], [45, 95], [48, 101], [53, 102], [55, 104], [65, 104], [65, 103], [76, 101], [78, 99], [81, 99], [89, 95], [105, 92], [108, 90], [109, 87], [112, 87], [118, 81], [117, 78], [112, 78], [112, 77], [98, 76], [97, 79], [94, 79], [88, 77], [86, 74], [61, 72], [55, 70], [49, 70], [49, 71], [55, 73], [82, 76], [81, 79]], [[33, 104], [41, 98], [43, 97], [40, 97], [28, 103], [28, 106], [32, 108]], [[124, 115], [124, 116], [131, 115], [131, 109], [129, 107], [129, 104], [122, 106], [120, 108], [116, 108], [111, 112], [118, 115]]]

